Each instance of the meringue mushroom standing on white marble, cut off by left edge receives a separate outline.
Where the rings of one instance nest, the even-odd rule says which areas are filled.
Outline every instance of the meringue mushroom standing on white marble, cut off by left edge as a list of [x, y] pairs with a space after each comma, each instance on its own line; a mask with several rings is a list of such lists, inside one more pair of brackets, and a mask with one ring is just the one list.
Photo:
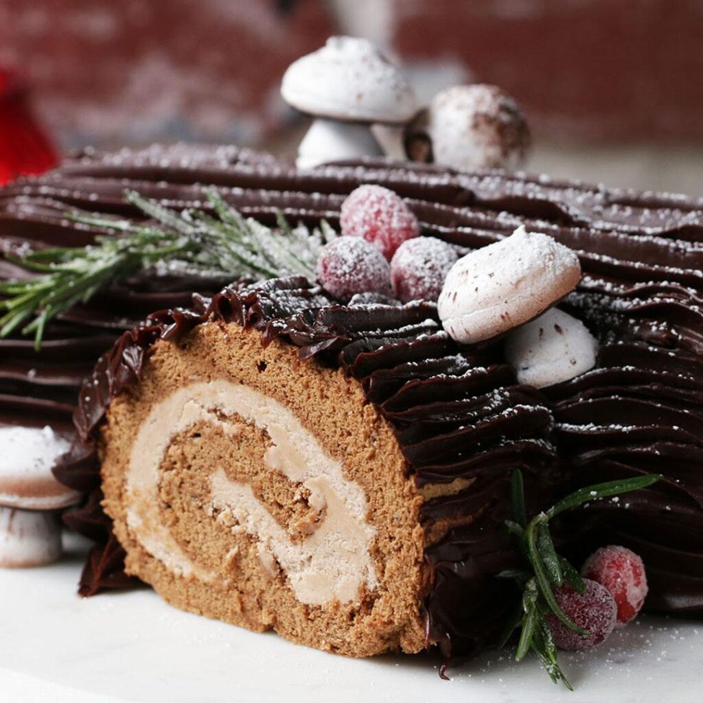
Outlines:
[[69, 447], [48, 425], [0, 426], [0, 567], [39, 566], [60, 556], [58, 512], [80, 494], [51, 468]]

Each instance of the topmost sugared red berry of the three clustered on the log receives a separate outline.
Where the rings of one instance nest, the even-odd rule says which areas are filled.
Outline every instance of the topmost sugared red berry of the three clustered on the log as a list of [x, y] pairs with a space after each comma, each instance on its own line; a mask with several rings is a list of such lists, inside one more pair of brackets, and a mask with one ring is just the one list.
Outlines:
[[349, 193], [340, 213], [342, 234], [372, 243], [389, 261], [406, 240], [420, 234], [420, 225], [405, 201], [382, 186], [364, 185]]

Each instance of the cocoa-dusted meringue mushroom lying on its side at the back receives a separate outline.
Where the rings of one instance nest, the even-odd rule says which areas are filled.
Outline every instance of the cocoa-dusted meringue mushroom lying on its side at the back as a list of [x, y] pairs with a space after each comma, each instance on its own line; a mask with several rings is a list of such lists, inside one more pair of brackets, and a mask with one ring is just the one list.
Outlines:
[[517, 169], [529, 146], [529, 129], [517, 103], [487, 84], [440, 91], [405, 129], [411, 161], [458, 169]]

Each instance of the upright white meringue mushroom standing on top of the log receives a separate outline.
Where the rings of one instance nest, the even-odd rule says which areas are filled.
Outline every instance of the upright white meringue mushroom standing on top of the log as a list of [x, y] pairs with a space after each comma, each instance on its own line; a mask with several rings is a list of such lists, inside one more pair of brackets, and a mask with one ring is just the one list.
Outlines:
[[280, 92], [293, 108], [316, 118], [299, 146], [301, 168], [381, 155], [370, 124], [402, 124], [417, 109], [401, 70], [378, 46], [354, 37], [330, 37], [292, 63]]

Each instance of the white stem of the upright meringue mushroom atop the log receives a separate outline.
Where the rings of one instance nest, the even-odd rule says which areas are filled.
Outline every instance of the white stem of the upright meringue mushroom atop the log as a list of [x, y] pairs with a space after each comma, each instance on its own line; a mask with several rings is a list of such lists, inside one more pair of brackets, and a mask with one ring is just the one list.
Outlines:
[[310, 169], [330, 161], [380, 155], [369, 124], [316, 117], [300, 142], [296, 165]]

